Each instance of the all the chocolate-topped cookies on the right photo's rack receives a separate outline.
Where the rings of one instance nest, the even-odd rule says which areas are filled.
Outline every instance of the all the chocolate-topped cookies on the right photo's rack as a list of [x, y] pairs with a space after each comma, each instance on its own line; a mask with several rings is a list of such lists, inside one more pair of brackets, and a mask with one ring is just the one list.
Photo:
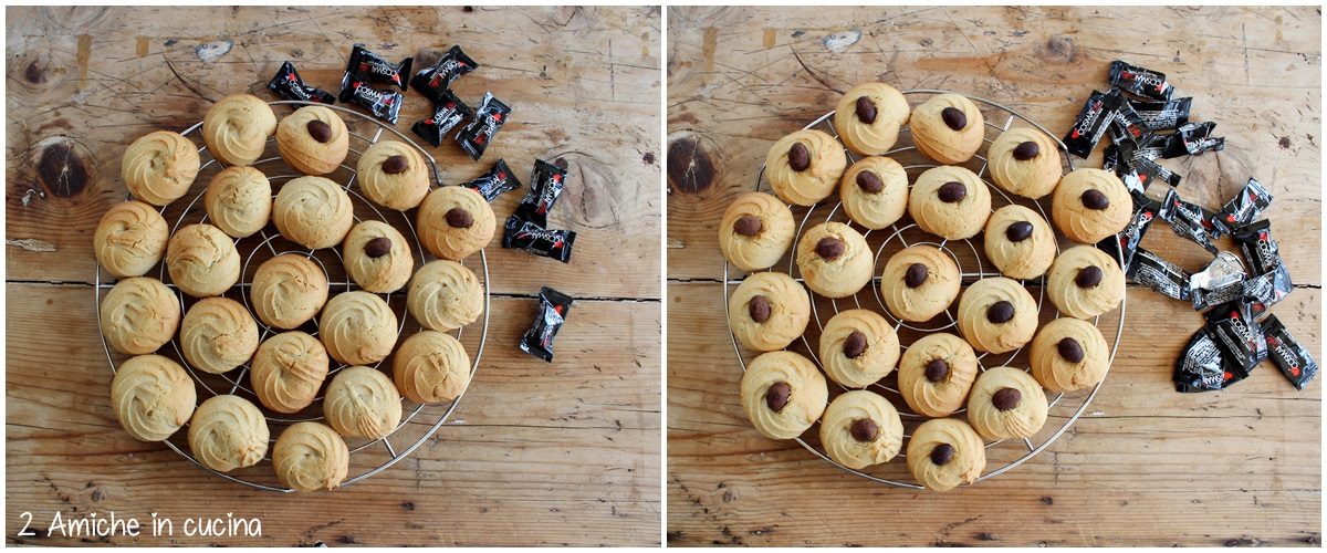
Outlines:
[[[1129, 192], [1107, 171], [1066, 174], [1059, 141], [1036, 127], [989, 125], [962, 94], [934, 93], [913, 107], [889, 85], [863, 84], [839, 101], [832, 130], [812, 126], [775, 142], [763, 170], [774, 194], [740, 195], [719, 223], [725, 259], [750, 273], [727, 306], [736, 342], [758, 353], [742, 378], [743, 410], [775, 439], [799, 438], [819, 422], [823, 451], [849, 469], [905, 452], [926, 488], [971, 483], [986, 467], [987, 442], [1042, 430], [1046, 390], [1091, 389], [1105, 377], [1111, 347], [1092, 320], [1120, 305], [1124, 275], [1091, 244], [1125, 228]], [[910, 154], [898, 143], [904, 131], [933, 163], [905, 167], [890, 158]], [[963, 164], [979, 151], [985, 166], [974, 172]], [[983, 175], [1003, 198], [1036, 207], [1050, 196], [1054, 227], [1013, 200], [993, 208]], [[847, 221], [829, 220], [843, 219], [837, 210], [823, 223], [794, 215], [827, 200], [833, 207], [835, 192]], [[1060, 251], [1056, 228], [1079, 245]], [[872, 232], [893, 239], [904, 231], [926, 237], [888, 256], [868, 244]], [[962, 241], [999, 275], [965, 282], [946, 248]], [[790, 251], [787, 267], [800, 280], [767, 271]], [[855, 297], [876, 277], [884, 313]], [[1030, 284], [1044, 286], [1059, 312], [1054, 321], [1040, 324]], [[840, 310], [839, 301], [853, 309]], [[817, 313], [832, 317], [815, 342], [807, 328]], [[898, 329], [914, 325], [922, 336], [900, 343]], [[941, 332], [950, 328], [958, 334]], [[799, 339], [807, 354], [788, 349]], [[1023, 347], [1028, 366], [983, 365]], [[831, 381], [843, 390], [832, 400]], [[904, 418], [922, 420], [910, 436]]]

